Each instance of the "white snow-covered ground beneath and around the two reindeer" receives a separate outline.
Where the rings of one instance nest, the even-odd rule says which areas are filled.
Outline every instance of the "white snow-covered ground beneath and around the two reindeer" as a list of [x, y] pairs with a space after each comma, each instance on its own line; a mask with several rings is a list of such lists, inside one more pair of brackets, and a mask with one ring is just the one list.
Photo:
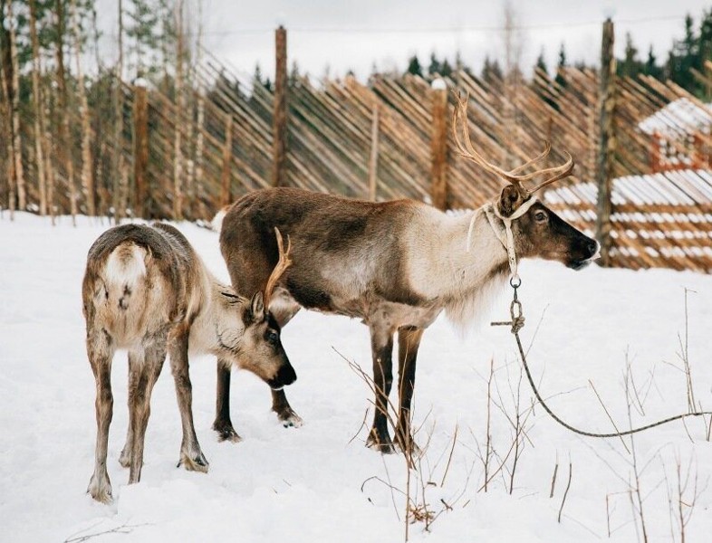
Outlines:
[[[226, 279], [216, 233], [177, 225]], [[120, 354], [112, 373], [108, 460], [114, 503], [101, 505], [85, 494], [95, 422], [80, 291], [86, 252], [107, 227], [85, 217], [76, 228], [66, 217], [55, 227], [30, 214], [16, 214], [14, 222], [7, 214], [0, 219], [0, 540], [79, 541], [95, 534], [101, 535], [91, 540], [403, 540], [403, 458], [364, 447], [368, 429], [361, 421], [370, 392], [339, 354], [370, 372], [367, 329], [354, 320], [306, 311], [283, 333], [299, 376], [287, 394], [303, 427], [278, 424], [266, 386], [241, 373], [233, 379], [231, 401], [244, 441], [217, 443], [210, 430], [215, 363], [195, 359], [193, 409], [210, 470], [178, 469], [180, 424], [167, 365], [152, 397], [142, 481], [128, 486], [128, 471], [118, 462], [127, 427], [127, 366]], [[685, 340], [684, 288], [694, 291], [688, 293], [694, 394], [712, 408], [712, 276], [596, 266], [574, 272], [548, 262], [524, 262], [520, 272], [526, 344], [541, 320], [530, 362], [543, 394], [553, 396], [551, 405], [565, 419], [611, 431], [593, 385], [616, 424], [628, 426], [626, 359], [638, 390], [631, 407], [634, 425], [687, 410], [678, 357], [678, 334]], [[486, 319], [504, 318], [509, 296], [505, 291]], [[495, 476], [485, 491], [480, 489], [491, 360], [494, 452], [488, 472]], [[633, 446], [630, 439], [583, 438], [555, 424], [540, 406], [531, 413], [532, 394], [524, 381], [525, 436], [510, 492], [515, 452], [509, 452], [514, 442], [509, 420], [515, 420], [519, 379], [507, 329], [482, 326], [462, 338], [440, 319], [426, 332], [414, 420], [420, 426], [417, 440], [428, 446], [419, 470], [411, 473], [410, 493], [418, 505], [425, 501], [434, 514], [442, 512], [429, 532], [422, 522], [411, 524], [411, 540], [551, 543], [608, 539], [609, 531], [611, 541], [642, 540], [638, 496], [630, 493], [636, 486], [633, 451], [649, 541], [680, 540], [680, 509], [686, 540], [709, 540], [712, 443], [698, 418], [638, 434]], [[505, 468], [497, 473], [503, 461]], [[558, 522], [570, 462], [570, 488]]]

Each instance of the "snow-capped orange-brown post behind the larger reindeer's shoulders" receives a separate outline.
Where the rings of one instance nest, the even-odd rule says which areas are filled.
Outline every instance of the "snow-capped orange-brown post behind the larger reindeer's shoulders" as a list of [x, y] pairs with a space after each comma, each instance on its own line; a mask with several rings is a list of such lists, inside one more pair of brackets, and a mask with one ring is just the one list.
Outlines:
[[435, 207], [447, 209], [447, 85], [445, 81], [433, 81], [433, 125], [430, 133], [430, 198]]

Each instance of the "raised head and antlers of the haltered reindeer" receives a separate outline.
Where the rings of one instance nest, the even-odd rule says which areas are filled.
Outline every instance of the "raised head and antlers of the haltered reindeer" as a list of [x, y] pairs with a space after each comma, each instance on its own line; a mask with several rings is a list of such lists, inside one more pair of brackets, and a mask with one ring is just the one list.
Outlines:
[[[544, 258], [562, 262], [566, 266], [580, 270], [597, 257], [599, 244], [584, 233], [566, 223], [551, 209], [542, 204], [534, 193], [554, 181], [571, 176], [573, 158], [568, 153], [565, 163], [556, 167], [535, 170], [522, 174], [525, 168], [531, 167], [549, 155], [551, 146], [545, 143], [544, 152], [538, 157], [528, 160], [522, 166], [505, 171], [487, 162], [472, 145], [467, 126], [467, 98], [457, 97], [453, 133], [457, 152], [460, 156], [475, 162], [487, 171], [504, 179], [509, 185], [492, 203], [495, 214], [504, 221], [511, 223], [514, 237], [515, 252], [519, 258]], [[460, 139], [458, 125], [465, 138]], [[548, 176], [532, 188], [525, 183], [534, 177]]]

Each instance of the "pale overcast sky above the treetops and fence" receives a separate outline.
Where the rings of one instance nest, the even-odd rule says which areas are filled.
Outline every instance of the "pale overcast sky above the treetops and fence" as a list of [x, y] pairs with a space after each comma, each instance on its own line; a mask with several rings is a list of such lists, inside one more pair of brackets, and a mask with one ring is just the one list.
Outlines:
[[[561, 43], [570, 62], [597, 63], [607, 15], [616, 24], [619, 56], [630, 32], [642, 59], [652, 44], [662, 62], [673, 39], [684, 33], [685, 14], [697, 23], [703, 9], [712, 8], [709, 0], [513, 0], [512, 5], [522, 27], [524, 69], [543, 48], [552, 69]], [[431, 52], [452, 62], [458, 50], [479, 71], [486, 55], [501, 59], [503, 49], [504, 0], [203, 0], [203, 10], [207, 49], [245, 75], [257, 62], [273, 75], [278, 24], [288, 30], [290, 66], [296, 61], [300, 71], [316, 77], [328, 67], [332, 76], [351, 69], [364, 79], [374, 62], [380, 71], [403, 70], [412, 54], [427, 66]], [[112, 24], [108, 12], [101, 17], [105, 29]]]

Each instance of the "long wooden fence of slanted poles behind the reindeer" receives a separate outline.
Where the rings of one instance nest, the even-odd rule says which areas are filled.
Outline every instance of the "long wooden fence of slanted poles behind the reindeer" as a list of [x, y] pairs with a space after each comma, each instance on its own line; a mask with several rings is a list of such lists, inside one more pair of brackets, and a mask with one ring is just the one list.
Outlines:
[[[468, 93], [470, 134], [490, 161], [515, 167], [537, 155], [544, 140], [553, 146], [549, 165], [563, 162], [564, 151], [571, 153], [574, 176], [549, 191], [547, 200], [594, 230], [601, 138], [595, 71], [565, 69], [560, 74], [563, 84], [543, 72], [536, 72], [533, 81], [505, 82], [459, 71], [442, 81], [446, 90], [411, 75], [374, 76], [368, 84], [347, 77], [319, 85], [289, 77], [280, 90], [284, 94], [275, 100], [272, 90], [253, 85], [208, 52], [203, 58], [188, 75], [183, 102], [170, 89], [146, 90], [121, 82], [119, 140], [108, 128], [115, 119], [102, 119], [99, 108], [92, 111], [95, 193], [74, 191], [80, 212], [87, 213], [91, 200], [97, 214], [121, 214], [118, 202], [129, 214], [147, 218], [209, 219], [239, 195], [273, 185], [278, 160], [284, 160], [279, 183], [288, 186], [377, 200], [409, 197], [442, 208], [482, 205], [502, 184], [453, 152], [450, 123], [457, 89]], [[104, 84], [111, 88], [116, 81], [109, 78]], [[612, 265], [712, 270], [709, 174], [700, 170], [650, 176], [659, 148], [656, 138], [640, 128], [645, 119], [680, 99], [708, 111], [672, 82], [646, 77], [615, 82]], [[281, 120], [274, 117], [279, 100], [286, 107]], [[25, 185], [30, 209], [36, 209], [33, 120], [29, 113], [23, 119]], [[285, 130], [284, 146], [274, 144], [275, 120]], [[79, 126], [79, 121], [75, 112], [70, 124]], [[696, 148], [712, 148], [712, 115], [707, 121], [706, 129], [694, 131]], [[73, 138], [72, 164], [80, 171], [80, 134]], [[689, 152], [685, 138], [669, 138], [665, 144], [668, 154], [682, 157]], [[284, 157], [275, 158], [279, 152]], [[117, 154], [126, 165], [118, 182], [120, 172], [113, 167]], [[2, 171], [10, 171], [5, 154], [2, 160]], [[176, 167], [177, 160], [181, 167]], [[53, 213], [71, 209], [72, 187], [65, 169], [54, 168]], [[6, 202], [7, 184], [2, 185], [0, 197]], [[116, 186], [123, 186], [118, 199]]]

